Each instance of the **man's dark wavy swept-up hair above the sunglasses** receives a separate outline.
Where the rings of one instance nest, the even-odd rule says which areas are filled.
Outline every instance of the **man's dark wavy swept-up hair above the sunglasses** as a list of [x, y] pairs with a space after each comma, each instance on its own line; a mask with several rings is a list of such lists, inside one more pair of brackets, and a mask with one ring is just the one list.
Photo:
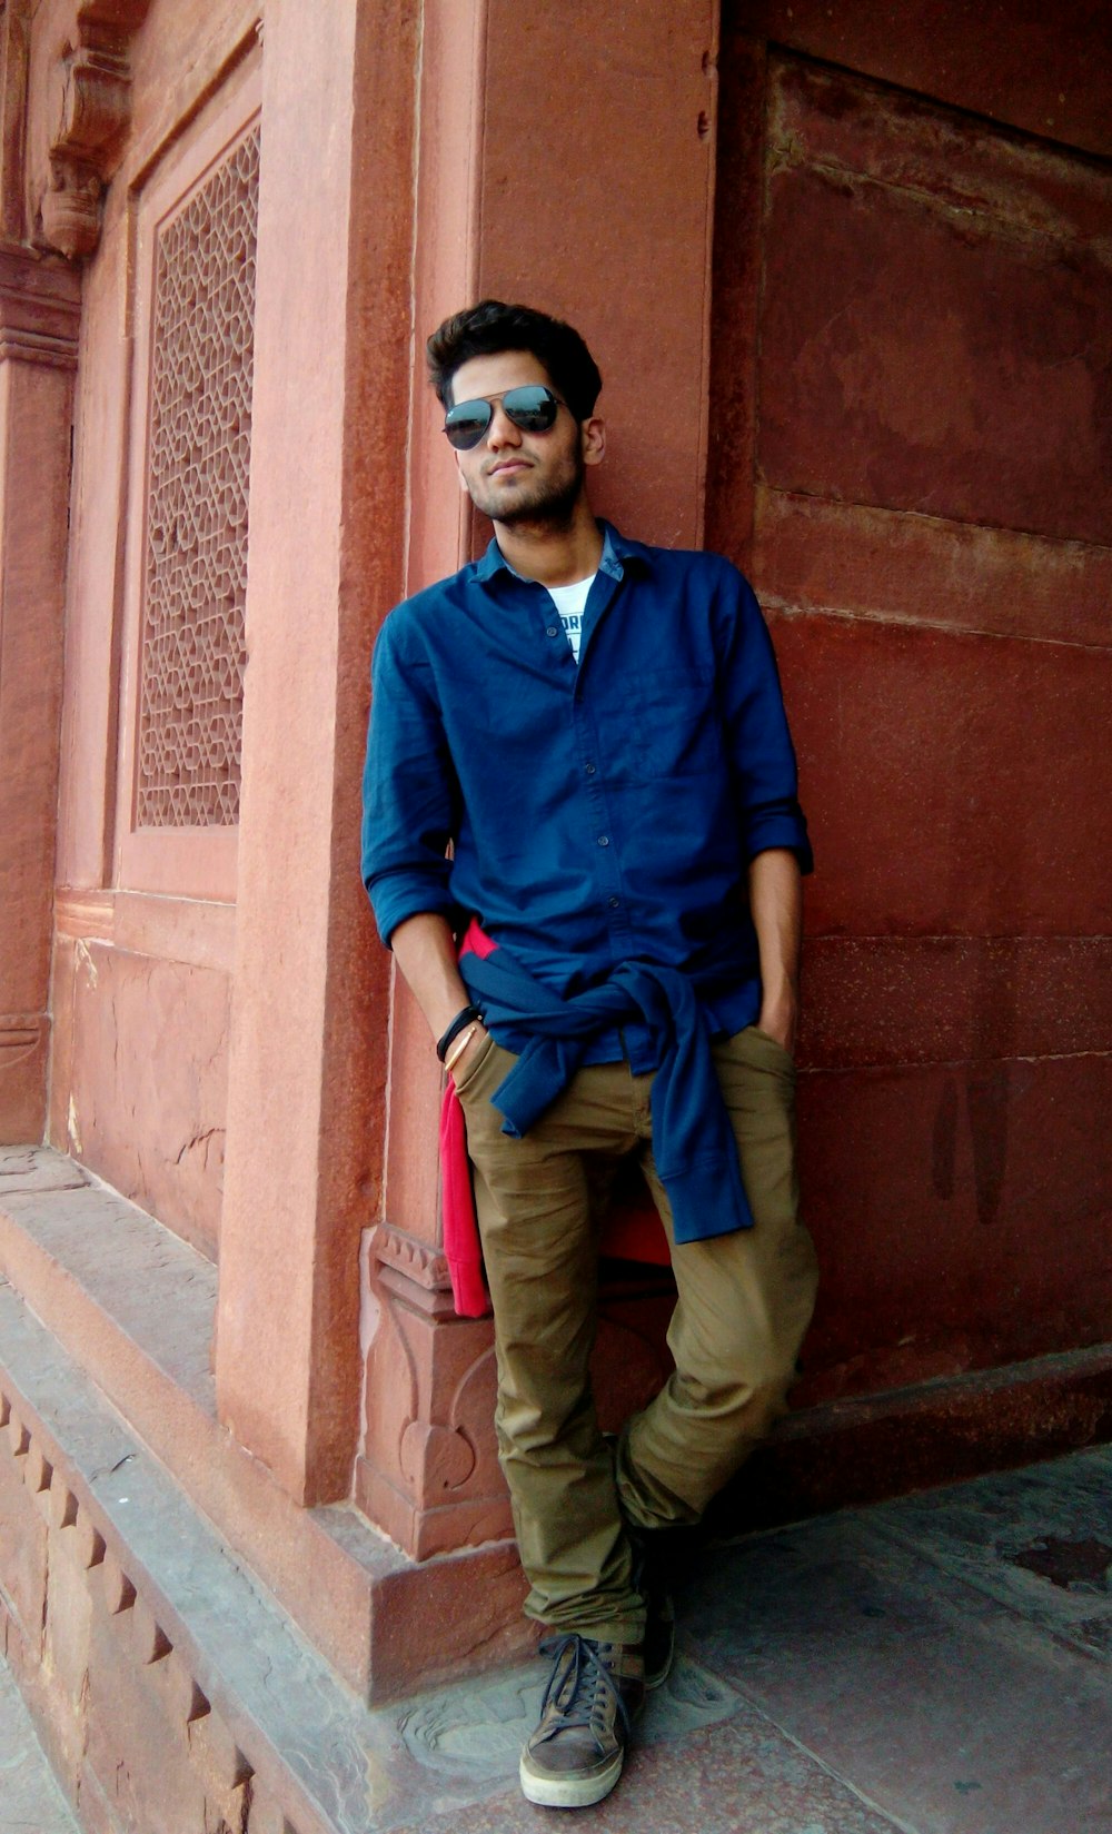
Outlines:
[[451, 378], [462, 363], [473, 356], [501, 356], [503, 350], [534, 356], [576, 420], [589, 420], [595, 413], [602, 376], [580, 334], [547, 312], [506, 306], [501, 299], [481, 299], [477, 306], [455, 312], [426, 343], [429, 381], [442, 405], [451, 407]]

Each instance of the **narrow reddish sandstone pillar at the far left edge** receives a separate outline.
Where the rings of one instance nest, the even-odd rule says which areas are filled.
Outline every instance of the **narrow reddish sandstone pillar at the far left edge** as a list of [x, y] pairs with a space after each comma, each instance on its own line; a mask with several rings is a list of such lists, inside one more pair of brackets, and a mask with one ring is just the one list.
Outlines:
[[0, 248], [0, 1141], [40, 1141], [81, 281]]

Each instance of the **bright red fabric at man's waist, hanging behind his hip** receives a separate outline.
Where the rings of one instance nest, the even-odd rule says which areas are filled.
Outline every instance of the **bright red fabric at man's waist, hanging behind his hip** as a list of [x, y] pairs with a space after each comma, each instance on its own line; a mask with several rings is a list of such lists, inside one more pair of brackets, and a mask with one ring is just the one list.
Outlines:
[[[472, 917], [459, 954], [486, 957], [495, 948], [497, 943]], [[468, 1159], [468, 1126], [451, 1077], [444, 1084], [444, 1100], [440, 1102], [440, 1188], [451, 1302], [461, 1319], [483, 1319], [490, 1311], [490, 1293], [483, 1278], [483, 1249], [479, 1247], [479, 1220]], [[644, 1203], [620, 1203], [609, 1210], [602, 1225], [598, 1251], [615, 1260], [650, 1262], [655, 1267], [672, 1265], [668, 1236], [648, 1192]]]

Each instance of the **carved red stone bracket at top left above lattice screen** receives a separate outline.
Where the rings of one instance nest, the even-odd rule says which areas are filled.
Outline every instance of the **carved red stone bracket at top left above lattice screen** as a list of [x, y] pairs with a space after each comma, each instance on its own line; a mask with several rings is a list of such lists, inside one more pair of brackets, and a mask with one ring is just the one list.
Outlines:
[[130, 121], [130, 40], [150, 0], [77, 0], [62, 53], [50, 138], [40, 235], [70, 260], [101, 238], [101, 194], [123, 156]]

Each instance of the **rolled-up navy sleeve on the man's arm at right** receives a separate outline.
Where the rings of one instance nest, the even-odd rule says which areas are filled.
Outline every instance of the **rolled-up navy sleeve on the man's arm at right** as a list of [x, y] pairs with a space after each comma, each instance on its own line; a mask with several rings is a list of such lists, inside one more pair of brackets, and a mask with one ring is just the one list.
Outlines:
[[809, 873], [815, 858], [798, 803], [795, 746], [773, 640], [752, 587], [732, 567], [721, 587], [719, 614], [723, 724], [745, 858], [787, 847], [800, 871]]

